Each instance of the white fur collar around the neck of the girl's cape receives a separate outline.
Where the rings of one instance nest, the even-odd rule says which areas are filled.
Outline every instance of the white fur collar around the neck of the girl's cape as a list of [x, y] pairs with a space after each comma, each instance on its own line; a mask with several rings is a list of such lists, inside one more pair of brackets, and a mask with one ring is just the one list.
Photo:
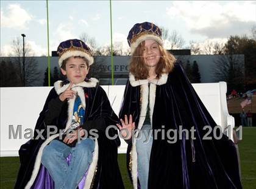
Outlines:
[[154, 80], [135, 80], [135, 77], [132, 73], [129, 74], [129, 81], [130, 81], [130, 84], [133, 86], [133, 87], [136, 87], [136, 86], [139, 86], [141, 84], [148, 84], [148, 83], [154, 83], [154, 84], [157, 84], [157, 85], [162, 85], [162, 84], [165, 84], [166, 81], [168, 79], [168, 74], [162, 74], [161, 77], [159, 79], [154, 79]]

